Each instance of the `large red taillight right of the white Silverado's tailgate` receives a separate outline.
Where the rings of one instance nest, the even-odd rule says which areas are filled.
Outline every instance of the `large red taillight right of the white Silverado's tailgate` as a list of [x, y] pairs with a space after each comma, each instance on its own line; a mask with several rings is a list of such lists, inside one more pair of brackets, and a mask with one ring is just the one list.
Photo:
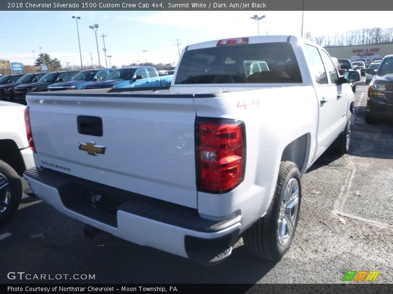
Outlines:
[[244, 179], [244, 123], [198, 118], [196, 124], [198, 189], [225, 193]]

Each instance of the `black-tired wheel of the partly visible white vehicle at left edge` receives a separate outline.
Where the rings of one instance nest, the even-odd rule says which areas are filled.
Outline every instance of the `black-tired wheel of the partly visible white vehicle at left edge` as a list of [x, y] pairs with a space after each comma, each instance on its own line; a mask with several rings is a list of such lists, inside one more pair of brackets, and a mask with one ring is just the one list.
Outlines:
[[22, 198], [22, 182], [17, 172], [0, 160], [0, 224], [18, 209]]

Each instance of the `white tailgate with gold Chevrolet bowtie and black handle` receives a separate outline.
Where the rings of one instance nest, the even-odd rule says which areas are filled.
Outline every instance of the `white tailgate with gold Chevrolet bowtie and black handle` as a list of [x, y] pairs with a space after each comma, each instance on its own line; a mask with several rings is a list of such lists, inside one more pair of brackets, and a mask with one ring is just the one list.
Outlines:
[[193, 97], [155, 96], [29, 96], [38, 164], [197, 208]]

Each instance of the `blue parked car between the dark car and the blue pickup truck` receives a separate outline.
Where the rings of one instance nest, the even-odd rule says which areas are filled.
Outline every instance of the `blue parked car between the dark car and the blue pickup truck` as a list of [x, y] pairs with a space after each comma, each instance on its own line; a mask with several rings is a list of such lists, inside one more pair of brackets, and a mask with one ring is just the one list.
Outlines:
[[84, 85], [90, 82], [103, 80], [112, 71], [113, 70], [111, 69], [85, 70], [77, 73], [68, 82], [59, 82], [48, 86], [48, 90], [49, 91], [80, 90], [83, 89]]

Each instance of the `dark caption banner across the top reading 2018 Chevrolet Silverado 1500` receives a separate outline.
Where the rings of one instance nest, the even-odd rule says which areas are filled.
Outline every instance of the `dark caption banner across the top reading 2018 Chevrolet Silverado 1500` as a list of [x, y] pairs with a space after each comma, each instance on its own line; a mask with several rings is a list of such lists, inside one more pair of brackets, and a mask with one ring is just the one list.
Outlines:
[[[6, 0], [9, 11], [368, 11], [393, 10], [386, 0]], [[348, 15], [346, 21], [350, 21]], [[375, 17], [375, 16], [374, 16]], [[329, 20], [327, 20], [329, 21]], [[332, 13], [330, 21], [337, 21]]]

